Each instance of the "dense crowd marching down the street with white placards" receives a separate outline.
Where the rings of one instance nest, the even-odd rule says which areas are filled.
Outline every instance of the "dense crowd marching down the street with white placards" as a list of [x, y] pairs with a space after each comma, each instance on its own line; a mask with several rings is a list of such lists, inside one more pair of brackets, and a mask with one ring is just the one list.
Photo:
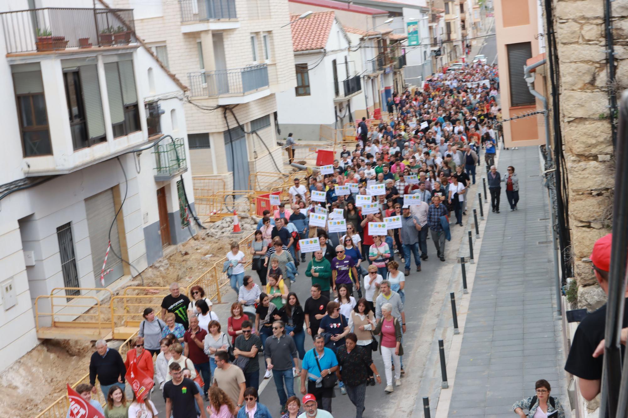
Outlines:
[[[135, 394], [126, 400], [131, 363], [154, 378], [152, 396], [161, 392], [165, 416], [174, 418], [270, 418], [277, 412], [282, 418], [328, 418], [336, 387], [360, 418], [368, 385], [385, 379], [384, 391], [394, 392], [404, 375], [404, 289], [411, 261], [420, 272], [430, 238], [445, 261], [450, 222], [463, 225], [480, 154], [493, 166], [493, 211], [499, 213], [502, 183], [511, 210], [518, 200], [514, 168], [504, 176], [494, 168], [494, 122], [501, 119], [497, 68], [475, 63], [439, 73], [421, 87], [393, 94], [390, 121], [362, 118], [355, 148], [343, 146], [330, 173], [314, 173], [303, 183], [295, 179], [290, 205], [264, 212], [247, 254], [237, 242], [230, 245], [224, 272], [237, 300], [229, 318], [212, 311], [202, 287], [193, 286], [188, 297], [171, 284], [161, 319], [151, 308], [144, 311], [126, 361], [97, 341], [92, 386], [77, 388], [84, 399], [95, 393], [97, 378], [107, 418], [156, 417], [151, 400], [138, 402]], [[374, 193], [377, 185], [383, 193]], [[310, 213], [344, 220], [346, 230], [310, 225]], [[369, 233], [390, 217], [399, 222], [385, 235]], [[306, 260], [299, 240], [313, 237], [320, 246]], [[251, 261], [259, 282], [245, 274]], [[301, 263], [311, 280], [308, 297], [291, 290]], [[306, 337], [314, 345], [308, 351]], [[373, 353], [382, 357], [384, 378]], [[277, 410], [258, 402], [261, 375], [274, 380]]]

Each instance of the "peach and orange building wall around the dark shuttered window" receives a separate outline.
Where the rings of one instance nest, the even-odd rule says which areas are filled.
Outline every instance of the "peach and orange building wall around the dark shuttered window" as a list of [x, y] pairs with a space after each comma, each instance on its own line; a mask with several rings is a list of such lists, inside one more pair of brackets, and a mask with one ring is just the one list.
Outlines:
[[[528, 4], [527, 10], [529, 16], [529, 24], [504, 27], [504, 12], [506, 12], [506, 16], [511, 16], [512, 10], [509, 9], [510, 7], [514, 7], [514, 11], [520, 11], [520, 3]], [[506, 45], [509, 45], [511, 43], [530, 42], [532, 45], [532, 56], [536, 56], [542, 52], [539, 51], [539, 43], [534, 38], [534, 36], [539, 33], [540, 29], [538, 28], [538, 25], [536, 23], [536, 2], [534, 0], [516, 0], [516, 3], [514, 3], [512, 0], [496, 0], [494, 2], [494, 8], [496, 35], [495, 38], [497, 41], [497, 63], [499, 65], [499, 93], [501, 95], [502, 117], [504, 119], [508, 119], [509, 117], [513, 117], [517, 114], [527, 113], [530, 110], [534, 110], [535, 108], [534, 106], [510, 106], [510, 84]], [[507, 18], [507, 24], [511, 23], [512, 19]], [[544, 94], [543, 81], [540, 80], [540, 78], [541, 77], [537, 77], [536, 81], [534, 82], [534, 88]], [[536, 109], [543, 109], [543, 105], [538, 100], [536, 103]], [[544, 144], [545, 128], [543, 117], [534, 116], [531, 117], [531, 119], [531, 121], [504, 123], [504, 142], [506, 143], [506, 147], [536, 146]], [[536, 119], [536, 121], [534, 119]]]

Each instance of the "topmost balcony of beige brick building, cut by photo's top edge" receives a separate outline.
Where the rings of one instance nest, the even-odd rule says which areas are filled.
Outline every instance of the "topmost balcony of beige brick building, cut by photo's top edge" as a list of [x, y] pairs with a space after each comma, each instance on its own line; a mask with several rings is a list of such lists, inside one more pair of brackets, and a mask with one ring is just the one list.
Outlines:
[[181, 33], [237, 29], [236, 0], [179, 0]]

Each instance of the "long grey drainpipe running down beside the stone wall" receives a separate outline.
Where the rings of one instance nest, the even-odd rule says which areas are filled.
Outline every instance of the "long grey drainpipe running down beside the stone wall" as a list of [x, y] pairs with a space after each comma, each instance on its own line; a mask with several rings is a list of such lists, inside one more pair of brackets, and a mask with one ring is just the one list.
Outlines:
[[[549, 188], [549, 182], [548, 177], [549, 176], [555, 176], [556, 175], [556, 170], [553, 168], [549, 168], [550, 163], [552, 162], [552, 157], [551, 157], [551, 147], [549, 146], [549, 110], [548, 110], [548, 100], [545, 98], [544, 95], [540, 94], [539, 92], [537, 92], [536, 90], [534, 90], [534, 74], [531, 73], [532, 70], [534, 70], [534, 68], [537, 67], [541, 67], [541, 65], [543, 65], [546, 62], [546, 60], [543, 58], [543, 60], [534, 63], [533, 65], [528, 65], [528, 67], [524, 67], [523, 68], [523, 74], [524, 74], [524, 78], [526, 80], [526, 82], [528, 83], [528, 89], [530, 90], [530, 93], [536, 97], [537, 99], [541, 100], [541, 102], [543, 103], [543, 111], [544, 111], [544, 118], [545, 118], [545, 163], [546, 163], [546, 171], [543, 172], [543, 175], [545, 176], [545, 184], [547, 185], [548, 188], [548, 195], [549, 195], [549, 204], [551, 205], [549, 208], [549, 213], [551, 214], [551, 237], [552, 237], [552, 243], [554, 246], [554, 250], [552, 251], [552, 254], [554, 256], [554, 281], [555, 281], [555, 292], [556, 292], [556, 314], [558, 316], [561, 316], [562, 313], [562, 306], [561, 306], [561, 291], [560, 291], [560, 274], [558, 273], [558, 240], [556, 239], [556, 215], [554, 213], [554, 202], [556, 200], [554, 192]], [[556, 183], [554, 183], [556, 185]]]

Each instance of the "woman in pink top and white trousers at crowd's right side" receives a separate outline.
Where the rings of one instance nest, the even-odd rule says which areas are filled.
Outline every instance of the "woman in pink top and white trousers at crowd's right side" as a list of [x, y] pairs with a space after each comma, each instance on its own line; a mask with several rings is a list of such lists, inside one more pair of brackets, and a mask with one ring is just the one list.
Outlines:
[[394, 384], [401, 386], [401, 362], [399, 356], [403, 355], [401, 347], [401, 324], [391, 315], [393, 305], [384, 303], [382, 305], [382, 319], [373, 331], [374, 335], [379, 334], [379, 352], [384, 360], [384, 371], [386, 372], [386, 389], [384, 392], [393, 392], [393, 370], [391, 360], [394, 363]]

